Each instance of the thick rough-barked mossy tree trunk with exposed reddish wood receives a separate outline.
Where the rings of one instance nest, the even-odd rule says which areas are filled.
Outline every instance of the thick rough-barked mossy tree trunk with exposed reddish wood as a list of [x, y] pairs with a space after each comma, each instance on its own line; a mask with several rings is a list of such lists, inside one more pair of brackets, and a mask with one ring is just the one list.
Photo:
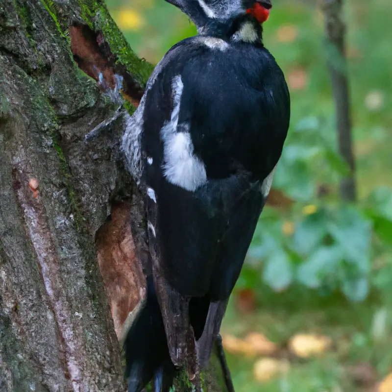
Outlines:
[[0, 0], [1, 392], [126, 389], [147, 237], [120, 140], [151, 70], [100, 0]]

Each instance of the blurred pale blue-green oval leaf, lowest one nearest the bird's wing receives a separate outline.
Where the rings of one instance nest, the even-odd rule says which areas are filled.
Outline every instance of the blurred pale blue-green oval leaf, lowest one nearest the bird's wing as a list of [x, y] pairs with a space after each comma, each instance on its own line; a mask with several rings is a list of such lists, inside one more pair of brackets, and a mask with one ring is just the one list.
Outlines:
[[288, 255], [281, 250], [266, 261], [264, 281], [275, 291], [286, 289], [293, 280], [293, 268]]

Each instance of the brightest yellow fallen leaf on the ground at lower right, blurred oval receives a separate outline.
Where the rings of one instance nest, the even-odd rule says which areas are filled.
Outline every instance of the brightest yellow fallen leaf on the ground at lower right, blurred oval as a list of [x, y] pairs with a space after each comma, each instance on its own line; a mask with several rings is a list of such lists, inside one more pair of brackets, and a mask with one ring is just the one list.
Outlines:
[[324, 353], [332, 344], [331, 338], [322, 335], [298, 334], [289, 341], [289, 349], [300, 358]]

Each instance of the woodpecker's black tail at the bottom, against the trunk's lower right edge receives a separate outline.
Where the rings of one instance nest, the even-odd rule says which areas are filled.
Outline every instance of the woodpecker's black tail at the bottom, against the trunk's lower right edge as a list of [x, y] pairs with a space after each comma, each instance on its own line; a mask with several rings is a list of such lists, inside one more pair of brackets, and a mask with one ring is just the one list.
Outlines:
[[126, 336], [124, 351], [128, 392], [142, 391], [154, 376], [156, 382], [162, 382], [170, 357], [152, 277], [147, 278], [147, 301]]

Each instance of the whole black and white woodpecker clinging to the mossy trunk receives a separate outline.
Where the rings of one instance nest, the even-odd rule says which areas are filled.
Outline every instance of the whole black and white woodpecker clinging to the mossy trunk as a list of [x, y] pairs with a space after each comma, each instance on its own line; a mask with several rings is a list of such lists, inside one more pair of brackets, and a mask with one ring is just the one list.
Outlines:
[[209, 359], [270, 191], [290, 122], [284, 75], [264, 47], [270, 0], [169, 0], [198, 34], [156, 66], [126, 124], [123, 151], [147, 203], [147, 303], [125, 342], [128, 391], [189, 333]]

